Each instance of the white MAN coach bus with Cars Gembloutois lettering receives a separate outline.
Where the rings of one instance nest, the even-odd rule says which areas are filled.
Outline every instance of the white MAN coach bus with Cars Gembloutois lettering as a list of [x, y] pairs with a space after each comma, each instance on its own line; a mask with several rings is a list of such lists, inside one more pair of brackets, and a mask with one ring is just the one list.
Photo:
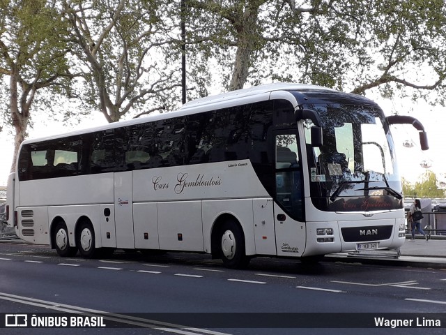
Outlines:
[[114, 248], [317, 260], [399, 248], [402, 187], [390, 124], [362, 96], [270, 84], [176, 112], [37, 140], [8, 180], [17, 236], [61, 256]]

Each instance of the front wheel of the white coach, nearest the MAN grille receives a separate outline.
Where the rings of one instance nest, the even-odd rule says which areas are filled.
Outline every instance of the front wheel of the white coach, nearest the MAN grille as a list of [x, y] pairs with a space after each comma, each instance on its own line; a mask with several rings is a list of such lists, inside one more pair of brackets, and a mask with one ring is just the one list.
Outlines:
[[225, 267], [244, 269], [249, 263], [245, 254], [243, 230], [234, 220], [227, 220], [220, 230], [220, 254]]

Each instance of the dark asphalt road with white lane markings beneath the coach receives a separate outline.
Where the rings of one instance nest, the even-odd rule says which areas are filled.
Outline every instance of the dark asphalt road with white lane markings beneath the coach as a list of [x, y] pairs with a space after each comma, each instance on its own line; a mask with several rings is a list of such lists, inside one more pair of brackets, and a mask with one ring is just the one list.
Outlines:
[[[327, 325], [345, 327], [343, 334], [357, 334], [353, 327], [363, 328], [361, 334], [445, 334], [446, 274], [437, 269], [344, 262], [308, 267], [295, 260], [256, 258], [246, 270], [230, 270], [208, 255], [147, 258], [120, 251], [108, 259], [84, 260], [59, 258], [46, 246], [29, 244], [0, 244], [0, 269], [0, 313], [88, 310], [113, 313], [114, 320], [107, 322], [121, 327], [65, 329], [64, 334], [327, 334]], [[443, 315], [443, 325], [366, 325], [383, 313], [428, 319], [430, 313], [441, 313], [433, 316], [437, 320]], [[130, 328], [132, 322], [144, 329]], [[309, 328], [296, 329], [296, 324]], [[18, 330], [3, 328], [0, 333], [24, 334]], [[59, 333], [45, 328], [26, 329], [26, 334]]]

